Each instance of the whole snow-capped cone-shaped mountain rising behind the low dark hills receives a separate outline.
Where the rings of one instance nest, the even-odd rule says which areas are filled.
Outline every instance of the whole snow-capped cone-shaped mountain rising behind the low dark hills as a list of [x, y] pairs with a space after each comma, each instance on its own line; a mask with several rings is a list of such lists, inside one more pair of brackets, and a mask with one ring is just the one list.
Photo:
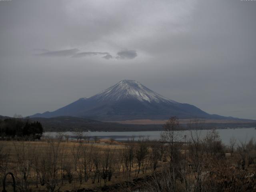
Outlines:
[[231, 118], [208, 114], [196, 106], [170, 100], [134, 80], [122, 80], [90, 98], [80, 98], [53, 112], [38, 113], [30, 117], [56, 116], [75, 116], [102, 121], [168, 119], [170, 116]]

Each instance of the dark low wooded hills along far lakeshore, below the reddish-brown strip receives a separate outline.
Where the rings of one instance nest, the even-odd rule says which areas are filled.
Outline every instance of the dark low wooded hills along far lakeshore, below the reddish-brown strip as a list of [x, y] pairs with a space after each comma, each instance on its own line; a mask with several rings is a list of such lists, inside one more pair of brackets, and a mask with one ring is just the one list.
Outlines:
[[[163, 124], [119, 124], [114, 122], [100, 122], [91, 119], [77, 117], [56, 117], [56, 118], [31, 118], [33, 121], [41, 122], [47, 132], [72, 131], [156, 131], [163, 130]], [[211, 122], [200, 125], [203, 129], [212, 128], [249, 128], [256, 125], [255, 121], [244, 122]], [[191, 129], [188, 123], [180, 123], [183, 129]]]

